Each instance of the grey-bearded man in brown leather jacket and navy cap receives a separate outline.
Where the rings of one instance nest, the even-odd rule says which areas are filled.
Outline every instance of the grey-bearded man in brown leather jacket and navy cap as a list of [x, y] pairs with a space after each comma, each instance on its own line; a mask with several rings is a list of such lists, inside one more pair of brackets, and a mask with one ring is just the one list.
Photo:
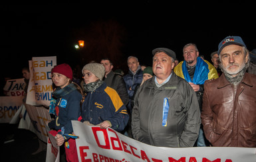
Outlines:
[[256, 75], [245, 72], [249, 51], [239, 36], [227, 36], [218, 54], [223, 74], [204, 85], [205, 137], [217, 147], [256, 147]]

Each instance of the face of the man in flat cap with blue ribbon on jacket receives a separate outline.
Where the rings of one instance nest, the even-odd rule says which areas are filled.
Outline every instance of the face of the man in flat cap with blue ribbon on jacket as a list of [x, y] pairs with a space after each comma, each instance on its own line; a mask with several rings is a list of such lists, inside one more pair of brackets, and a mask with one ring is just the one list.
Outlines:
[[174, 69], [174, 62], [172, 58], [164, 52], [155, 54], [153, 58], [153, 72], [156, 77], [160, 79], [166, 79], [172, 73]]

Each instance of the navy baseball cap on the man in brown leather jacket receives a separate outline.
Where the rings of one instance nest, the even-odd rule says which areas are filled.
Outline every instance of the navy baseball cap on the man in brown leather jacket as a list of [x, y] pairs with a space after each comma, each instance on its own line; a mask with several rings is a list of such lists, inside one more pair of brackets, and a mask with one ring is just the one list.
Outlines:
[[225, 46], [228, 46], [230, 44], [236, 44], [239, 46], [244, 46], [246, 48], [245, 43], [243, 42], [243, 40], [240, 36], [227, 36], [225, 39], [221, 40], [221, 42], [219, 43], [218, 55], [221, 53], [221, 50]]

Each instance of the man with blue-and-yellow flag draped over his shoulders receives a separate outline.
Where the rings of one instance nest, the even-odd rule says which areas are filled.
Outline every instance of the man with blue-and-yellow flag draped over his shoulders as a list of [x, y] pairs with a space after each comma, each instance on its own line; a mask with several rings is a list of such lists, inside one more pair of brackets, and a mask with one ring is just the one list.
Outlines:
[[[195, 44], [186, 44], [183, 48], [183, 56], [184, 61], [181, 61], [174, 68], [174, 73], [190, 83], [193, 91], [195, 91], [199, 108], [201, 110], [203, 83], [207, 79], [216, 79], [218, 77], [217, 71], [215, 67], [211, 65], [211, 63], [199, 57], [199, 51], [197, 50], [197, 46]], [[197, 147], [207, 146], [202, 128], [199, 130], [199, 136], [195, 145]]]

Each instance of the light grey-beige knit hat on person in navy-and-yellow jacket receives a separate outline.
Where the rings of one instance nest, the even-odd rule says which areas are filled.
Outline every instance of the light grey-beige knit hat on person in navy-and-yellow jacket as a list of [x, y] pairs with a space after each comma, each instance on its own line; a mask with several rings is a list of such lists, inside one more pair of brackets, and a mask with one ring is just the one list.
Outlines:
[[82, 67], [82, 73], [84, 70], [92, 72], [98, 79], [100, 79], [100, 81], [102, 81], [105, 75], [105, 67], [100, 63], [88, 63]]

